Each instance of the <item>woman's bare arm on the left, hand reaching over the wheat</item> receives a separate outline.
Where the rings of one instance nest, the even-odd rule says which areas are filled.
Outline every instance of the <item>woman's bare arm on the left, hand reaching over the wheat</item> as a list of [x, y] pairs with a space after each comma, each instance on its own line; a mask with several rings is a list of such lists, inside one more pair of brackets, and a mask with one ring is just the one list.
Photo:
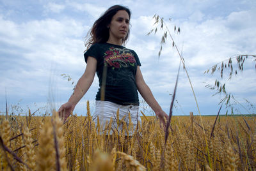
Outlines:
[[81, 98], [83, 98], [84, 94], [88, 91], [90, 86], [92, 85], [93, 78], [95, 76], [95, 72], [97, 69], [97, 59], [94, 57], [88, 57], [87, 59], [87, 66], [81, 78], [79, 78], [74, 93], [70, 96], [67, 103], [61, 105], [60, 109], [58, 110], [61, 117], [63, 117], [64, 122], [66, 121], [67, 117], [76, 107]]

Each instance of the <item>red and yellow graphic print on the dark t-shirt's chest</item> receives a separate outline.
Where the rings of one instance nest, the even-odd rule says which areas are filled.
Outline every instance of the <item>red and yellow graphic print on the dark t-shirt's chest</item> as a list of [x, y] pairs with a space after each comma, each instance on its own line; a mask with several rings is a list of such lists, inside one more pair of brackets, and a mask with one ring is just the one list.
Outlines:
[[118, 47], [110, 47], [104, 53], [104, 62], [108, 64], [108, 66], [115, 68], [122, 68], [135, 66], [136, 60], [127, 48], [118, 48]]

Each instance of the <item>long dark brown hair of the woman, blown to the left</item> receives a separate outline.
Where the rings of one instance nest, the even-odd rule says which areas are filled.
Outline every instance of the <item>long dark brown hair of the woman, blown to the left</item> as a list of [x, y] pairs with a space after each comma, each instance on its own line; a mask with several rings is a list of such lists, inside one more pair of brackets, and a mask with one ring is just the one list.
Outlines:
[[[88, 40], [85, 42], [86, 50], [88, 50], [88, 48], [90, 48], [95, 43], [106, 43], [106, 41], [108, 41], [108, 25], [110, 24], [112, 17], [117, 13], [117, 11], [120, 10], [127, 11], [129, 18], [131, 18], [131, 11], [129, 10], [129, 8], [126, 8], [125, 6], [121, 5], [111, 6], [107, 11], [105, 11], [105, 13], [99, 19], [97, 19], [94, 22], [92, 29], [88, 31], [88, 34], [90, 33], [90, 38], [88, 38], [87, 36]], [[129, 34], [130, 29], [128, 30], [128, 33], [125, 36], [125, 38], [122, 40], [123, 44], [129, 38]]]

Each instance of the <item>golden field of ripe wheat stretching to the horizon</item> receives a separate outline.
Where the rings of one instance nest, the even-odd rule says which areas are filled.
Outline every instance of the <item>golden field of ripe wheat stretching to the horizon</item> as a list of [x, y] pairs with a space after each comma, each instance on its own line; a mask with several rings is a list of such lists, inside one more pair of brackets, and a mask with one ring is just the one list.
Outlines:
[[[0, 117], [0, 170], [255, 170], [255, 117], [173, 116], [167, 142], [155, 117], [137, 130], [72, 114]], [[129, 117], [129, 116], [128, 116]], [[202, 120], [201, 120], [202, 119]]]

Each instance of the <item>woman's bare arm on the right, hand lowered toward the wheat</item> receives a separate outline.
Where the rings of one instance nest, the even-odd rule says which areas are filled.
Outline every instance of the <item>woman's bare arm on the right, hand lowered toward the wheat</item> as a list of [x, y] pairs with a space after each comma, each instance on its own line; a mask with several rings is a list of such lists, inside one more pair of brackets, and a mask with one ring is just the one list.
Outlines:
[[152, 108], [152, 110], [154, 110], [157, 117], [159, 117], [161, 123], [164, 123], [164, 117], [166, 117], [166, 119], [167, 119], [167, 114], [163, 111], [163, 109], [157, 103], [150, 88], [145, 83], [145, 80], [144, 80], [141, 70], [140, 70], [140, 66], [137, 66], [136, 85], [137, 85], [138, 91], [140, 92], [143, 99], [148, 103], [148, 105]]

